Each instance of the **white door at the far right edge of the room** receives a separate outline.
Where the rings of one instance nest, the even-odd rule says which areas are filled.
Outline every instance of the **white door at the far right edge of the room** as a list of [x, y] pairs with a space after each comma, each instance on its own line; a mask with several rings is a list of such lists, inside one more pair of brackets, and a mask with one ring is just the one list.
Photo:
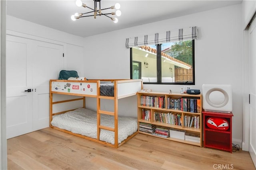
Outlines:
[[256, 167], [256, 20], [249, 27], [249, 152]]

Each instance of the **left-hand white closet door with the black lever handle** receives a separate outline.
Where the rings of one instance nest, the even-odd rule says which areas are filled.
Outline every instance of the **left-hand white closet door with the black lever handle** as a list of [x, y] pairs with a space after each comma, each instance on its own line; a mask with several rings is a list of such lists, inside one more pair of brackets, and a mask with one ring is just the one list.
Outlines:
[[32, 131], [31, 41], [6, 36], [6, 136]]

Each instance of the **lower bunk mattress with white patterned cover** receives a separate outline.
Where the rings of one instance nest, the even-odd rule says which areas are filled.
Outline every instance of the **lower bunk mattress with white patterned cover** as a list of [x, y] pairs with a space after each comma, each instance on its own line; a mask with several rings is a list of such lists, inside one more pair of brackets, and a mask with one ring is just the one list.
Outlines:
[[[97, 113], [90, 109], [79, 108], [74, 111], [55, 115], [52, 125], [87, 137], [97, 139]], [[100, 124], [114, 128], [114, 116], [101, 114]], [[137, 118], [118, 117], [118, 144], [138, 130]], [[115, 144], [114, 132], [100, 130], [100, 141]]]

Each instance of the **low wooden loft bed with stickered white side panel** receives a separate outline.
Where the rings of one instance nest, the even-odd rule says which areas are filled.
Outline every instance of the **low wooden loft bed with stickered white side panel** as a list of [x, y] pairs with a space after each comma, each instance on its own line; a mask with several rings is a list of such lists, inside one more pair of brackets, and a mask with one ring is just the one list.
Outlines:
[[[108, 86], [108, 88], [110, 88], [109, 87], [110, 85], [106, 84], [106, 83], [110, 83], [111, 86], [113, 86], [113, 88], [112, 88], [114, 90], [112, 92], [113, 95], [110, 94], [110, 96], [109, 96], [108, 94], [104, 94], [104, 92], [102, 92], [102, 89], [104, 89], [104, 85], [101, 85], [101, 84], [105, 84]], [[118, 148], [119, 146], [124, 144], [126, 141], [128, 141], [129, 139], [131, 139], [134, 135], [136, 135], [138, 133], [138, 123], [136, 120], [137, 118], [134, 118], [134, 120], [136, 120], [136, 131], [133, 130], [132, 134], [129, 135], [124, 140], [118, 138], [118, 128], [120, 128], [119, 126], [121, 126], [120, 124], [122, 124], [122, 122], [126, 122], [126, 120], [123, 120], [123, 117], [122, 117], [122, 119], [118, 117], [118, 99], [136, 95], [137, 92], [142, 89], [142, 86], [143, 86], [142, 80], [50, 80], [50, 127], [53, 129], [57, 129], [59, 131], [63, 131], [65, 133], [69, 133], [71, 135], [75, 135], [78, 137], [82, 137], [84, 139], [88, 139], [90, 141], [101, 143], [101, 144], [109, 146], [109, 147]], [[54, 100], [54, 102], [53, 102], [54, 94], [72, 95], [72, 96], [76, 96], [76, 98], [69, 99], [69, 100], [58, 99], [58, 101]], [[106, 95], [108, 95], [108, 96], [106, 96]], [[79, 98], [78, 96], [81, 96], [81, 98]], [[66, 105], [69, 102], [79, 102], [79, 101], [82, 101], [83, 106], [81, 106], [81, 107], [84, 108], [84, 109], [83, 108], [79, 108], [79, 109], [86, 110], [85, 97], [96, 98], [96, 101], [97, 101], [97, 112], [95, 112], [95, 119], [96, 119], [95, 126], [97, 127], [97, 129], [95, 129], [95, 131], [96, 131], [95, 133], [97, 135], [95, 137], [91, 137], [91, 136], [88, 137], [87, 135], [82, 135], [81, 133], [72, 132], [72, 130], [67, 130], [66, 128], [63, 128], [62, 126], [57, 127], [57, 124], [59, 122], [60, 122], [60, 124], [64, 124], [61, 122], [62, 119], [59, 120], [60, 116], [65, 117], [64, 116], [65, 114], [72, 115], [72, 114], [74, 114], [73, 111], [78, 111], [78, 109], [68, 109], [68, 110], [57, 111], [57, 112], [53, 113], [53, 106], [57, 106], [58, 104]], [[101, 99], [114, 100], [114, 112], [101, 110], [100, 109], [100, 100]], [[57, 110], [60, 110], [60, 109], [57, 109]], [[113, 124], [110, 126], [104, 125], [104, 119], [103, 119], [104, 116], [113, 118], [113, 122], [112, 122]], [[103, 118], [101, 118], [101, 117], [103, 117]], [[88, 118], [85, 118], [85, 120], [86, 119], [88, 119]], [[122, 122], [118, 121], [119, 119]], [[54, 122], [55, 120], [58, 120], [58, 123], [55, 123]], [[63, 121], [63, 122], [65, 122], [65, 121]], [[110, 122], [110, 120], [108, 120], [108, 122]], [[52, 125], [52, 123], [55, 123], [55, 126]], [[79, 123], [80, 123], [80, 125], [82, 123], [82, 124], [84, 124], [84, 126], [87, 126], [87, 124], [84, 122], [78, 122], [79, 127], [80, 127]], [[67, 124], [69, 124], [69, 123], [67, 123]], [[132, 124], [132, 123], [130, 123], [130, 124]], [[73, 125], [71, 125], [71, 126], [73, 126]], [[128, 125], [122, 125], [122, 126], [126, 127]], [[72, 129], [72, 128], [70, 128], [70, 129]], [[90, 128], [90, 129], [93, 129], [93, 128]], [[107, 131], [108, 131], [108, 133], [111, 133], [113, 135], [113, 142], [101, 139], [103, 133], [105, 134]], [[120, 133], [122, 133], [123, 131], [126, 131], [126, 129], [120, 129]], [[123, 135], [121, 134], [119, 136], [123, 136]], [[120, 141], [120, 140], [122, 140], [122, 141]]]

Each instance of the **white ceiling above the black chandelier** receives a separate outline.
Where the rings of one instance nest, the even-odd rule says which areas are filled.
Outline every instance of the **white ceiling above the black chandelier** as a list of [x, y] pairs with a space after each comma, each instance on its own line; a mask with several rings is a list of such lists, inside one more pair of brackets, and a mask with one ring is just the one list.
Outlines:
[[[7, 15], [31, 21], [81, 37], [88, 37], [136, 25], [176, 18], [188, 14], [242, 3], [242, 0], [101, 0], [101, 8], [116, 2], [121, 5], [122, 15], [118, 23], [106, 16], [80, 18], [72, 21], [74, 13], [89, 12], [77, 7], [76, 0], [8, 0]], [[93, 0], [82, 0], [94, 8]], [[102, 11], [103, 13], [103, 11]]]

